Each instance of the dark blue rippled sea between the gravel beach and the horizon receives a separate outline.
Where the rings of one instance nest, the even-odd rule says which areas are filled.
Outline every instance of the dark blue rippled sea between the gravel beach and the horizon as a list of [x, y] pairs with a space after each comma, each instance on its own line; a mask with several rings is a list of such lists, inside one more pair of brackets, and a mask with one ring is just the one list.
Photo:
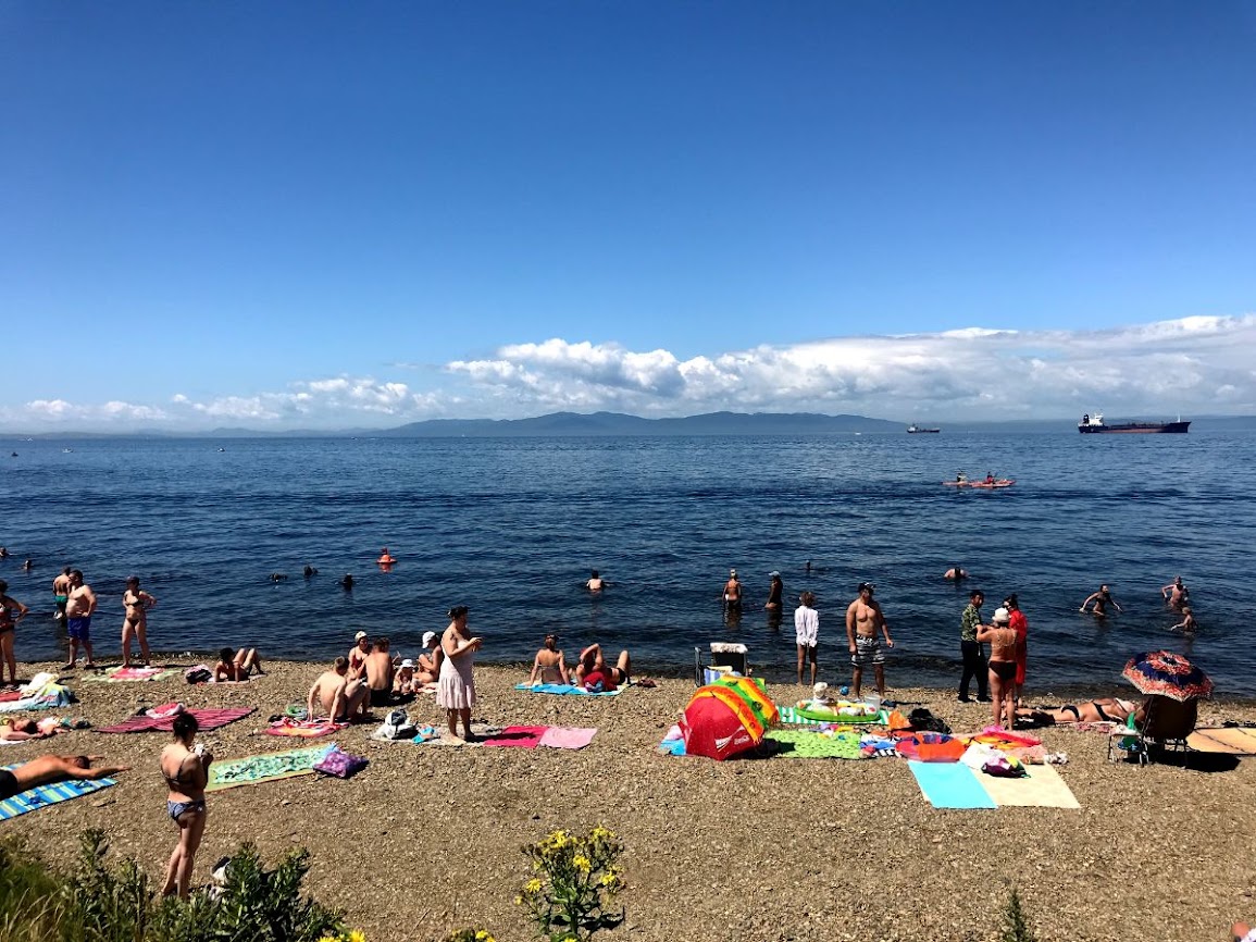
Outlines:
[[[1105, 685], [1138, 651], [1182, 651], [1218, 692], [1256, 676], [1256, 435], [865, 435], [833, 438], [0, 440], [0, 560], [10, 594], [36, 614], [19, 657], [51, 658], [53, 577], [84, 571], [99, 598], [93, 638], [114, 657], [123, 579], [160, 604], [165, 652], [250, 644], [330, 658], [364, 628], [412, 654], [471, 607], [482, 661], [530, 661], [558, 628], [570, 653], [600, 641], [643, 668], [678, 672], [708, 641], [750, 646], [769, 677], [793, 671], [793, 602], [819, 599], [821, 676], [845, 681], [843, 617], [862, 579], [897, 642], [891, 686], [958, 674], [966, 592], [988, 615], [1017, 592], [1030, 623], [1030, 685]], [[16, 457], [9, 457], [18, 452]], [[956, 471], [1016, 479], [1004, 491], [941, 486]], [[387, 545], [391, 573], [373, 560]], [[31, 573], [21, 560], [35, 561]], [[811, 560], [813, 571], [805, 571]], [[319, 574], [304, 579], [305, 564]], [[746, 612], [725, 624], [720, 589], [736, 566]], [[583, 590], [588, 570], [612, 582]], [[761, 610], [767, 574], [785, 580], [786, 620]], [[288, 580], [273, 583], [271, 573]], [[337, 582], [345, 573], [353, 592]], [[1202, 631], [1159, 587], [1181, 574]], [[1096, 624], [1078, 605], [1100, 582], [1124, 612]]]

